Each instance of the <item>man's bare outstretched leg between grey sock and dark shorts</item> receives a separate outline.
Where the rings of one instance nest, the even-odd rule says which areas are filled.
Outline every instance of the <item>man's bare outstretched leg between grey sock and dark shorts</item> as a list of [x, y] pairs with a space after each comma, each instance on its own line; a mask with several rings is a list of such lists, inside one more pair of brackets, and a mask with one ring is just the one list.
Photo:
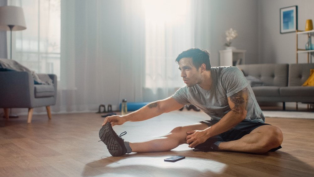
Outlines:
[[192, 125], [176, 127], [164, 136], [154, 138], [143, 142], [130, 142], [132, 152], [160, 152], [170, 151], [181, 144], [187, 143], [187, 132], [192, 130], [204, 130], [208, 125], [196, 123]]

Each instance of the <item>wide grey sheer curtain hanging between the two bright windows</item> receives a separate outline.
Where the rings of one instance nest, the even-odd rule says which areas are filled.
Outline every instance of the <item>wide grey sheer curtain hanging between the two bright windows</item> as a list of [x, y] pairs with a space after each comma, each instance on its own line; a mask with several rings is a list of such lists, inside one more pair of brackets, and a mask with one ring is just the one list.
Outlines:
[[141, 102], [144, 40], [141, 1], [61, 1], [62, 90], [55, 112], [114, 110]]

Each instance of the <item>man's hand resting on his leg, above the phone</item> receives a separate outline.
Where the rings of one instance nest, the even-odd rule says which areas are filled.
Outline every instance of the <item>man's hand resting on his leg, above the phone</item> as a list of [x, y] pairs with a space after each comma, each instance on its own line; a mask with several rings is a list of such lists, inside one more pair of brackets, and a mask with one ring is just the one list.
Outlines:
[[205, 142], [208, 137], [205, 130], [193, 130], [188, 131], [187, 134], [190, 134], [187, 136], [187, 144], [190, 144], [189, 147], [193, 148], [197, 145]]

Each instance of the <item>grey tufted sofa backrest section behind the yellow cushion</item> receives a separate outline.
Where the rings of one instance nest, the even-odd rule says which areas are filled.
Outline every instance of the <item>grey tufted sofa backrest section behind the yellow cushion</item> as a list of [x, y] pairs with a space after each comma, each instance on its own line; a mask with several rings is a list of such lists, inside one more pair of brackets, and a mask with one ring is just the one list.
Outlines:
[[288, 86], [302, 86], [310, 76], [310, 69], [314, 69], [314, 63], [290, 64]]

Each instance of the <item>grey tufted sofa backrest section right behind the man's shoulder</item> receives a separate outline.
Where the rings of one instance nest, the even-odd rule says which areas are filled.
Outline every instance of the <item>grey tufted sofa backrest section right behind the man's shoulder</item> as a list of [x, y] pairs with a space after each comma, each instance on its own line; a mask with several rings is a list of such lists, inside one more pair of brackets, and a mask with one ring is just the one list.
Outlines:
[[288, 64], [239, 64], [245, 76], [252, 75], [267, 86], [288, 86]]

